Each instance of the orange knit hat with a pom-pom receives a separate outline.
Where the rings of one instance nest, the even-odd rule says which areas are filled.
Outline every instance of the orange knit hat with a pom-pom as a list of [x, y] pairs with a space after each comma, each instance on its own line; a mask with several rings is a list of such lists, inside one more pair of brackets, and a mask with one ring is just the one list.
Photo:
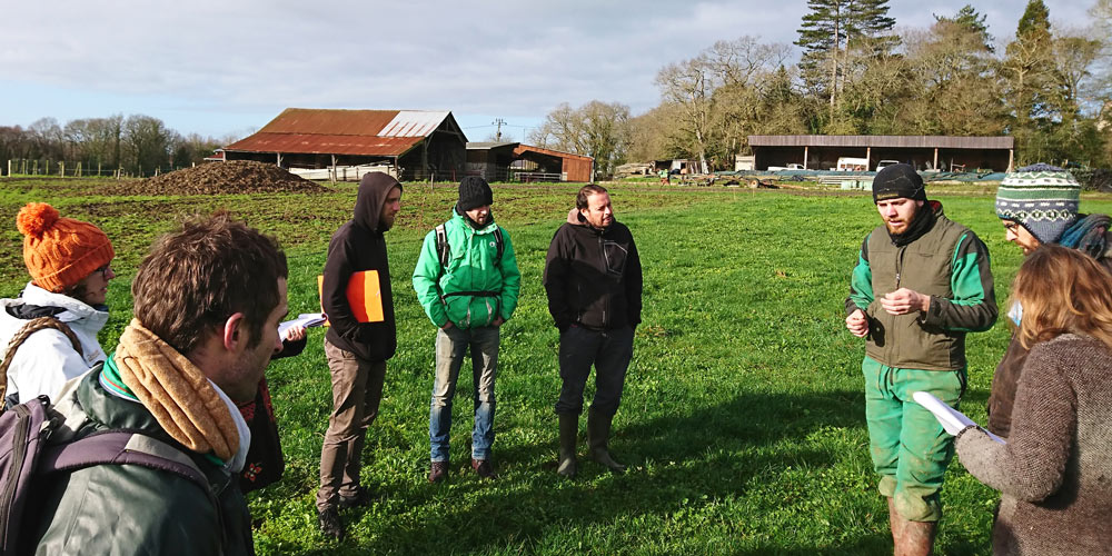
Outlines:
[[16, 217], [23, 235], [23, 264], [34, 285], [53, 292], [75, 286], [109, 264], [116, 251], [100, 228], [61, 218], [46, 202], [28, 202]]

